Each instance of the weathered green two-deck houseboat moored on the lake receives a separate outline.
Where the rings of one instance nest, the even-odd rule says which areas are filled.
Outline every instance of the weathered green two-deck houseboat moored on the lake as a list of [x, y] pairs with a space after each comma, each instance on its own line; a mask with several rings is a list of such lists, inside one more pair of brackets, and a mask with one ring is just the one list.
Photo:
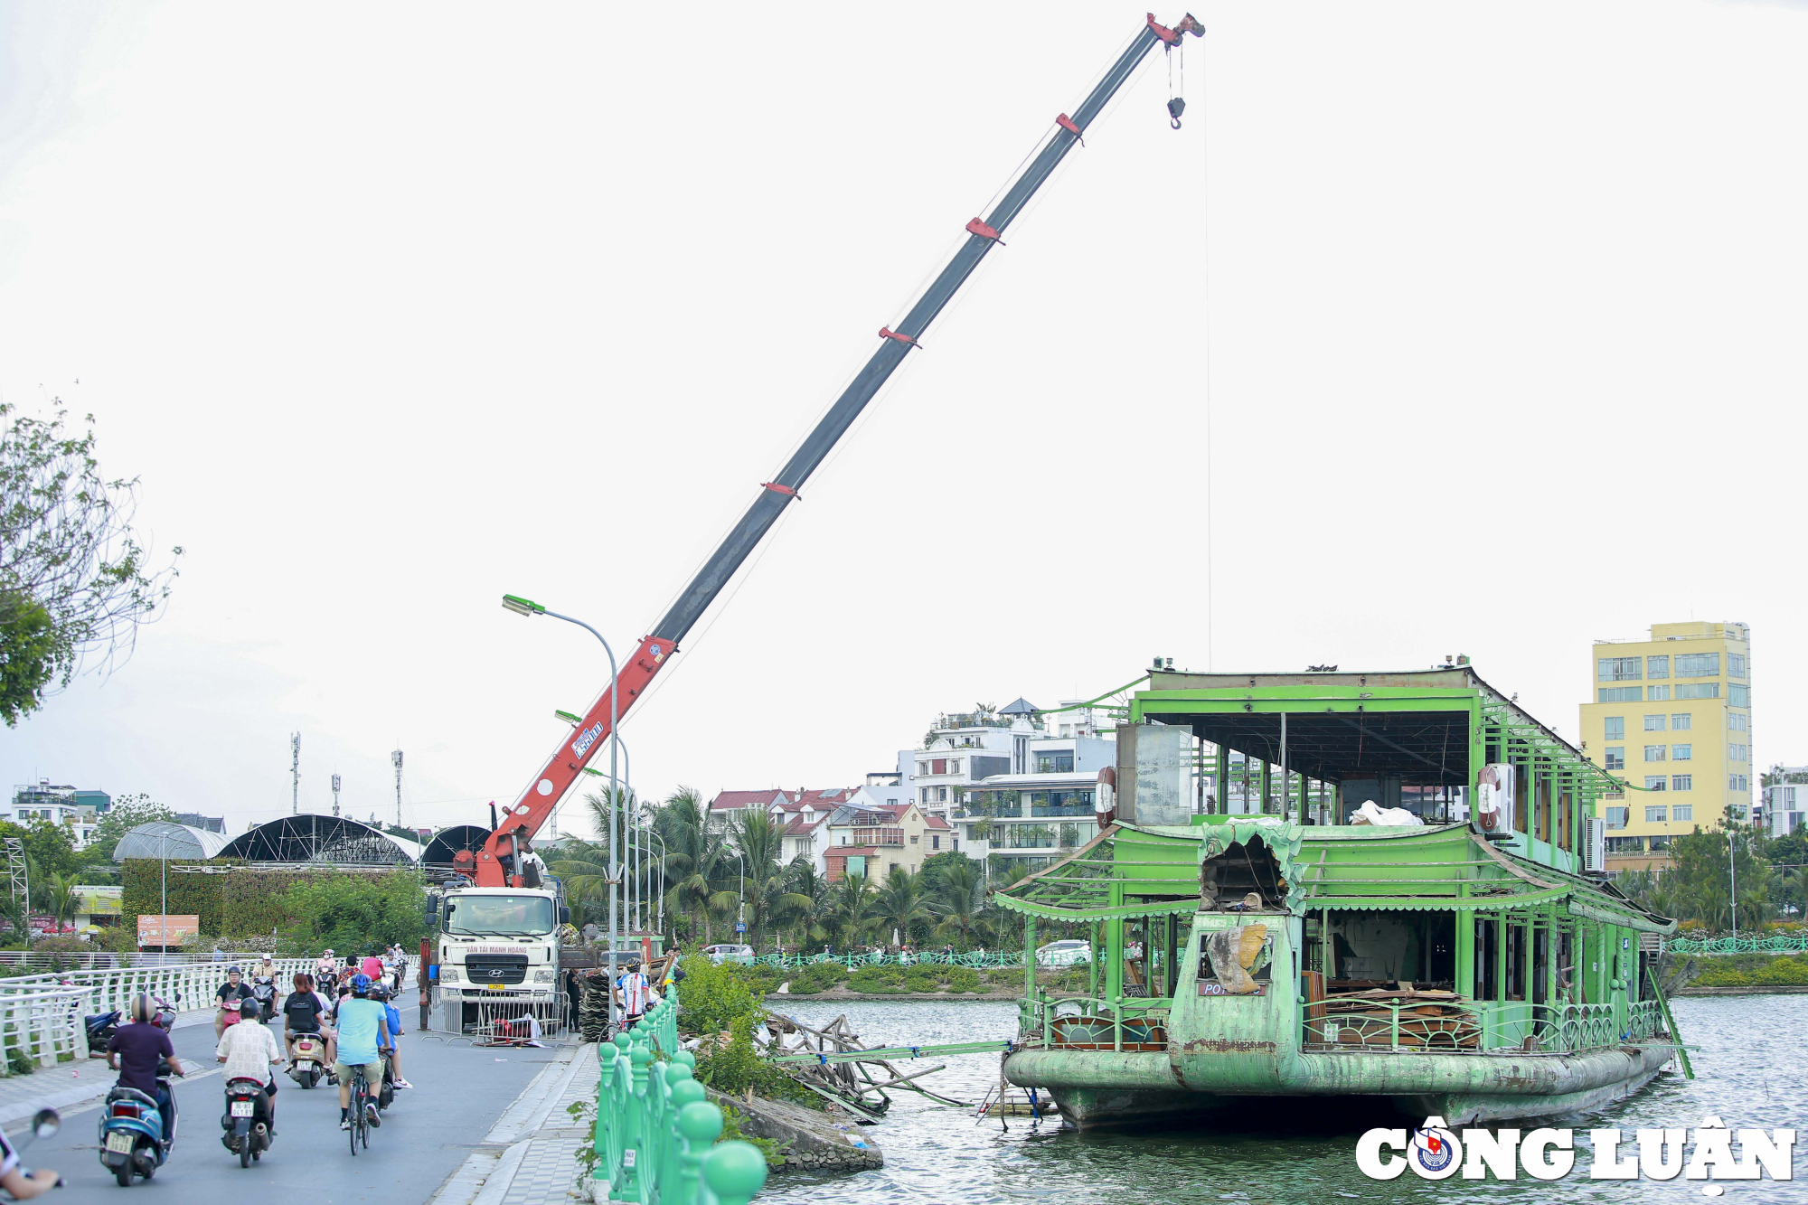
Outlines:
[[1251, 1096], [1450, 1125], [1625, 1096], [1678, 1044], [1647, 966], [1676, 923], [1600, 874], [1596, 802], [1624, 789], [1468, 666], [1157, 671], [1099, 836], [996, 896], [1029, 950], [1054, 921], [1099, 952], [1072, 993], [1027, 975], [1003, 1073], [1081, 1129]]

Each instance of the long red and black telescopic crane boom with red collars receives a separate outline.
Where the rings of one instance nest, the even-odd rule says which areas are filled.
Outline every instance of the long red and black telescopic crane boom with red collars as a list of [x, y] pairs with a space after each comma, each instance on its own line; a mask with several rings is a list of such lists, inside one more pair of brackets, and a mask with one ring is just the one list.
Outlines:
[[559, 745], [546, 765], [541, 767], [533, 783], [503, 814], [497, 829], [474, 859], [479, 887], [523, 887], [519, 854], [528, 849], [530, 840], [546, 821], [546, 816], [551, 814], [553, 807], [559, 805], [559, 800], [564, 798], [566, 791], [571, 789], [571, 783], [577, 782], [577, 776], [589, 764], [589, 758], [607, 740], [611, 715], [613, 722], [618, 724], [620, 716], [645, 693], [653, 677], [678, 650], [678, 642], [703, 617], [703, 612], [716, 601], [749, 554], [759, 546], [765, 534], [785, 514], [785, 507], [797, 499], [810, 474], [815, 472], [841, 436], [848, 432], [861, 416], [861, 411], [866, 409], [866, 403], [873, 400], [891, 373], [904, 362], [904, 356], [918, 346], [917, 340], [922, 333], [947, 308], [947, 302], [955, 299], [955, 293], [967, 282], [967, 277], [980, 266], [980, 261], [991, 253], [993, 244], [1000, 242], [1000, 235], [1023, 212], [1023, 206], [1029, 204], [1049, 176], [1054, 174], [1054, 168], [1059, 166], [1067, 152], [1087, 132], [1087, 127], [1105, 110], [1105, 105], [1110, 103], [1112, 96], [1117, 94], [1143, 58], [1157, 45], [1177, 45], [1181, 34], [1188, 33], [1195, 38], [1204, 33], [1204, 27], [1191, 14], [1186, 14], [1170, 29], [1159, 25], [1155, 14], [1150, 13], [1148, 24], [1137, 33], [1125, 52], [1117, 56], [1092, 92], [1087, 94], [1079, 109], [1072, 116], [1061, 114], [1056, 118], [1054, 130], [1041, 145], [1041, 150], [1011, 183], [998, 204], [993, 206], [993, 212], [984, 219], [975, 217], [967, 223], [967, 241], [960, 244], [955, 257], [929, 282], [929, 288], [909, 308], [909, 313], [904, 315], [895, 331], [880, 327], [879, 349], [873, 351], [866, 365], [843, 389], [835, 403], [828, 407], [828, 413], [823, 414], [803, 445], [785, 461], [777, 478], [761, 483], [759, 496], [754, 498], [741, 521], [734, 525], [734, 530], [711, 554], [703, 568], [696, 572], [671, 610], [653, 626], [651, 635], [642, 637], [640, 646], [627, 659], [627, 664], [620, 668], [615, 682], [584, 713], [584, 718], [573, 729], [575, 736]]

